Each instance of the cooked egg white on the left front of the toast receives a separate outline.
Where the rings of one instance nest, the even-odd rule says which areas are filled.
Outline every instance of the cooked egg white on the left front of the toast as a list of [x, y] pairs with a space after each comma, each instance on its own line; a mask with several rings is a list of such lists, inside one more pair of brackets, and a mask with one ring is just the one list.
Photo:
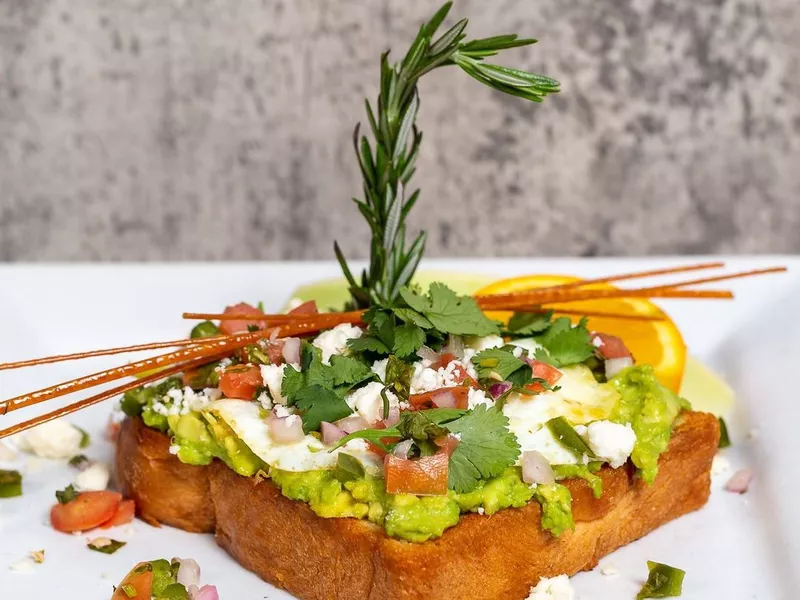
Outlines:
[[361, 461], [370, 474], [380, 473], [383, 461], [363, 440], [352, 440], [342, 448], [328, 448], [312, 435], [298, 442], [279, 444], [272, 439], [266, 419], [261, 418], [259, 406], [247, 400], [223, 399], [211, 403], [207, 412], [225, 421], [253, 453], [268, 465], [282, 471], [313, 471], [332, 469], [341, 452]]

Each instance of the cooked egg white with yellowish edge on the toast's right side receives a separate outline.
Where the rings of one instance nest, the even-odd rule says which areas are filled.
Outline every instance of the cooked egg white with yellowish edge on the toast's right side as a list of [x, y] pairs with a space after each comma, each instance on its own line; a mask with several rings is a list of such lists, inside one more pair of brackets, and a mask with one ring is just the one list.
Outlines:
[[[511, 394], [503, 406], [509, 429], [517, 437], [521, 451], [541, 452], [553, 465], [586, 462], [564, 448], [544, 425], [550, 419], [565, 417], [573, 424], [608, 418], [619, 400], [613, 386], [598, 383], [583, 365], [561, 369], [558, 391], [534, 396]], [[520, 456], [522, 454], [520, 453]]]

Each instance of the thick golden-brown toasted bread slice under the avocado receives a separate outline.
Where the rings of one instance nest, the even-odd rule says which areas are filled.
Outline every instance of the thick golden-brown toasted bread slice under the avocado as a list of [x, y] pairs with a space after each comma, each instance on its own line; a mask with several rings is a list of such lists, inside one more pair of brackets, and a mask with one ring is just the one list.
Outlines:
[[423, 544], [389, 538], [366, 521], [319, 517], [271, 481], [241, 477], [219, 461], [184, 465], [169, 454], [168, 438], [139, 419], [123, 424], [116, 476], [145, 520], [216, 531], [217, 543], [242, 566], [303, 600], [506, 600], [524, 598], [541, 577], [592, 569], [702, 507], [718, 439], [716, 417], [687, 412], [652, 485], [631, 469], [604, 467], [596, 500], [585, 482], [568, 481], [576, 526], [558, 538], [541, 529], [536, 502], [462, 515]]

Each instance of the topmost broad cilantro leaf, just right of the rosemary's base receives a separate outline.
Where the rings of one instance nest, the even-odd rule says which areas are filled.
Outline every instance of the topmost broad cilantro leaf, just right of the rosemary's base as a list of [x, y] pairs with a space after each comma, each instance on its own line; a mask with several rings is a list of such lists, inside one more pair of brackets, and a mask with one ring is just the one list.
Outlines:
[[458, 296], [444, 284], [432, 283], [427, 296], [409, 288], [400, 290], [400, 295], [409, 307], [443, 333], [484, 336], [498, 332], [497, 324], [486, 318], [474, 298]]

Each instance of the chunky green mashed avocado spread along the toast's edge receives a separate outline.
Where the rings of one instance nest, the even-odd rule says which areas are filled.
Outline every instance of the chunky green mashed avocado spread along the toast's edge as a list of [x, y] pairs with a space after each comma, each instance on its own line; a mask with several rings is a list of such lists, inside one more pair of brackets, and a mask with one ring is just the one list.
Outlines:
[[[669, 444], [673, 423], [682, 409], [689, 408], [688, 403], [663, 387], [650, 366], [630, 367], [609, 383], [620, 394], [611, 420], [631, 423], [637, 436], [631, 459], [642, 478], [652, 483], [658, 473], [658, 457]], [[147, 392], [135, 390], [136, 394], [126, 394], [123, 410], [141, 415], [151, 427], [170, 431], [182, 462], [207, 465], [219, 458], [243, 476], [268, 472], [284, 496], [306, 502], [321, 517], [367, 519], [383, 526], [390, 536], [424, 542], [440, 537], [446, 529], [456, 525], [461, 513], [492, 515], [505, 508], [525, 506], [534, 500], [542, 507], [544, 529], [558, 536], [574, 527], [569, 490], [559, 483], [529, 486], [522, 481], [517, 467], [508, 468], [497, 477], [481, 480], [471, 492], [459, 494], [450, 490], [446, 496], [387, 494], [383, 479], [360, 477], [344, 480], [337, 478], [334, 470], [289, 472], [270, 468], [222, 419], [209, 411], [170, 416], [155, 412], [153, 403], [179, 385], [179, 382], [167, 380], [157, 387], [142, 388]], [[585, 479], [594, 495], [599, 497], [602, 482], [594, 475], [599, 467], [600, 463], [557, 465], [554, 470], [557, 480]]]

